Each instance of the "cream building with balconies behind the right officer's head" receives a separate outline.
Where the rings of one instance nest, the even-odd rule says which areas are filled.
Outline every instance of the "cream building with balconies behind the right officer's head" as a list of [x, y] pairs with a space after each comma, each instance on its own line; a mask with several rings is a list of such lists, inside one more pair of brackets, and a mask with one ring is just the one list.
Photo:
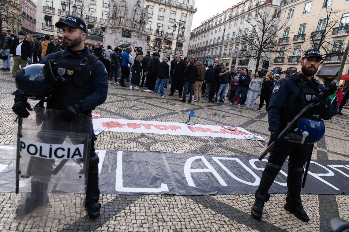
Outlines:
[[[337, 12], [329, 14], [331, 9]], [[316, 78], [325, 85], [335, 81], [342, 61], [335, 52], [343, 53], [349, 39], [349, 0], [281, 0], [281, 18], [289, 20], [289, 26], [280, 32], [273, 70], [285, 75], [300, 71], [304, 51], [320, 43], [326, 58]], [[342, 74], [348, 70], [346, 62]]]

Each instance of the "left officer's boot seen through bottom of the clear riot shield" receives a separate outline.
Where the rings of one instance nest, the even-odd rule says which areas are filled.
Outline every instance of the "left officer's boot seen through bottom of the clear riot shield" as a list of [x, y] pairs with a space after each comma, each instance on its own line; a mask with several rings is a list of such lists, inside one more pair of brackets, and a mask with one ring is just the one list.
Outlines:
[[24, 202], [18, 204], [16, 214], [24, 216], [31, 213], [39, 206], [43, 206], [48, 202], [47, 197], [47, 182], [32, 182], [31, 193], [28, 193]]

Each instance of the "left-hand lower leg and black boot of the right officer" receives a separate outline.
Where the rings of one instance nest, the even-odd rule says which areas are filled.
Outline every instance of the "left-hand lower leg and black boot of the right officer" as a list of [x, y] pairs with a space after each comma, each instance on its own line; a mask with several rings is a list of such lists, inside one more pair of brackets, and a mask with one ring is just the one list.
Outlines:
[[264, 202], [267, 202], [270, 198], [268, 191], [280, 169], [281, 166], [276, 165], [275, 163], [268, 162], [265, 166], [258, 190], [254, 193], [256, 200], [251, 210], [251, 215], [254, 219], [259, 220], [262, 218]]

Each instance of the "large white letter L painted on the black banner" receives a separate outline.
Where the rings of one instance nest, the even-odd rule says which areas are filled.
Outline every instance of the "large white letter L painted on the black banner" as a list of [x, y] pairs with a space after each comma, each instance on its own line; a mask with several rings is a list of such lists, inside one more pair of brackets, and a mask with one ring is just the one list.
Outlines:
[[122, 151], [118, 151], [117, 161], [116, 161], [116, 181], [115, 190], [118, 192], [133, 192], [133, 193], [160, 193], [169, 192], [167, 184], [161, 183], [161, 187], [154, 188], [130, 188], [122, 186]]

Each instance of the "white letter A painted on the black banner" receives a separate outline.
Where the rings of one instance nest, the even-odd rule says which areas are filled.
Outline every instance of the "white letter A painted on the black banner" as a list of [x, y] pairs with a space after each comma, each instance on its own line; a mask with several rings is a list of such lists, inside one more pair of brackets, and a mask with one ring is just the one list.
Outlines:
[[[195, 168], [192, 169], [192, 163], [194, 160], [197, 159], [201, 159], [201, 161], [206, 165], [207, 168]], [[203, 156], [194, 156], [194, 157], [190, 157], [189, 159], [187, 159], [187, 161], [185, 161], [184, 164], [184, 175], [185, 178], [187, 180], [187, 183], [189, 186], [191, 187], [196, 187], [196, 185], [194, 184], [193, 178], [191, 173], [207, 173], [207, 172], [211, 172], [218, 180], [218, 182], [222, 185], [222, 186], [228, 186], [225, 181], [223, 180], [223, 178], [217, 173], [217, 171], [212, 167], [212, 165], [209, 164], [209, 162], [205, 159], [205, 157]]]

